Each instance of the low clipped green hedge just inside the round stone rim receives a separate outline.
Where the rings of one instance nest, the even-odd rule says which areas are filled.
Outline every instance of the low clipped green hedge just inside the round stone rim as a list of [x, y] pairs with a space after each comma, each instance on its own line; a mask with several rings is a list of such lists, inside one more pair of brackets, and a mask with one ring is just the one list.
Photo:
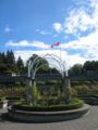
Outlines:
[[17, 110], [28, 110], [28, 112], [58, 112], [58, 110], [70, 110], [75, 108], [81, 108], [84, 105], [82, 100], [75, 99], [71, 104], [60, 104], [50, 106], [29, 106], [27, 104], [14, 104], [13, 109]]

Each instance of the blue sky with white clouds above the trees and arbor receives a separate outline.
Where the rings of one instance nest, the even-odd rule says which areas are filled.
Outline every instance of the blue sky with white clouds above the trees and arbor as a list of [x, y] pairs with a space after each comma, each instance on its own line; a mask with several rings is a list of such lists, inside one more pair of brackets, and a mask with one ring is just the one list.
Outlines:
[[98, 0], [0, 0], [0, 51], [26, 61], [60, 48], [70, 66], [98, 60]]

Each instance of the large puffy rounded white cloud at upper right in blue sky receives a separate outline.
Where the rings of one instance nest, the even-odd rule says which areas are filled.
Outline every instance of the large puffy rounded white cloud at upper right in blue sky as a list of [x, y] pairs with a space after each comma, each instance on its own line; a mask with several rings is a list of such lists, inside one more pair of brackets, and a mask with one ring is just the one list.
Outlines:
[[93, 29], [94, 27], [93, 17], [83, 10], [72, 11], [64, 22], [64, 31], [72, 35]]

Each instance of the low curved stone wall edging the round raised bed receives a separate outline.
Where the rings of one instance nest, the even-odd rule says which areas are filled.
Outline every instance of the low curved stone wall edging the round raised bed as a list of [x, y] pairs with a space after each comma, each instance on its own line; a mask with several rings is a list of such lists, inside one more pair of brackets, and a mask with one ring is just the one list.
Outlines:
[[52, 122], [52, 121], [64, 121], [70, 119], [75, 119], [84, 116], [90, 109], [90, 106], [84, 104], [82, 108], [71, 109], [71, 110], [59, 110], [59, 112], [27, 112], [12, 109], [9, 107], [8, 115], [9, 118], [15, 121], [25, 122]]

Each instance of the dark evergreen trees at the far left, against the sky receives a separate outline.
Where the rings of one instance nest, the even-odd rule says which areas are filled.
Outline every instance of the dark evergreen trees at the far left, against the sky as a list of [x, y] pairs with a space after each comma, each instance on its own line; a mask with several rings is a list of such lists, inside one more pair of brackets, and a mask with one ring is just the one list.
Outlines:
[[[21, 60], [21, 57], [19, 57]], [[21, 60], [23, 63], [23, 61]], [[23, 63], [24, 64], [24, 63]], [[24, 65], [23, 65], [24, 66]], [[7, 53], [0, 53], [0, 74], [21, 74], [19, 60], [15, 60], [13, 51], [7, 51]]]

